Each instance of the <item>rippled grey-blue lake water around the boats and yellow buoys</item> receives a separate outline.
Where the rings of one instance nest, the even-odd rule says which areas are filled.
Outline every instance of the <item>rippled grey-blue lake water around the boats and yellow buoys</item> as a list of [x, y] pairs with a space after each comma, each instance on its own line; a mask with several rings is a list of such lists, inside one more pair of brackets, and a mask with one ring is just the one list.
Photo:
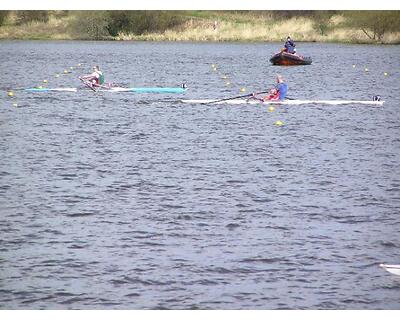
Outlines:
[[[378, 264], [400, 263], [400, 46], [298, 43], [312, 65], [271, 66], [280, 47], [0, 42], [0, 308], [399, 309]], [[189, 89], [7, 97], [94, 64]], [[179, 101], [277, 73], [291, 98], [386, 102]]]

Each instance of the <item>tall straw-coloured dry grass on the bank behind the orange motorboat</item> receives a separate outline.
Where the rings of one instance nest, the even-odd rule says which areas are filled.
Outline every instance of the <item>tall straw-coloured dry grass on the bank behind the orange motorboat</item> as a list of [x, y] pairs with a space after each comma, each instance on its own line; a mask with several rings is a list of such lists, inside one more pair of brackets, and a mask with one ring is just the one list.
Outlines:
[[[292, 18], [273, 22], [269, 19], [255, 19], [249, 22], [232, 22], [225, 19], [218, 21], [214, 30], [214, 21], [209, 19], [189, 20], [183, 27], [166, 30], [163, 33], [144, 35], [121, 33], [116, 40], [144, 41], [284, 41], [290, 35], [296, 41], [318, 42], [354, 42], [370, 43], [370, 39], [361, 31], [339, 26], [342, 17], [332, 17], [331, 30], [326, 35], [317, 33], [313, 21], [309, 18]], [[384, 43], [399, 43], [400, 36], [388, 34]]]

